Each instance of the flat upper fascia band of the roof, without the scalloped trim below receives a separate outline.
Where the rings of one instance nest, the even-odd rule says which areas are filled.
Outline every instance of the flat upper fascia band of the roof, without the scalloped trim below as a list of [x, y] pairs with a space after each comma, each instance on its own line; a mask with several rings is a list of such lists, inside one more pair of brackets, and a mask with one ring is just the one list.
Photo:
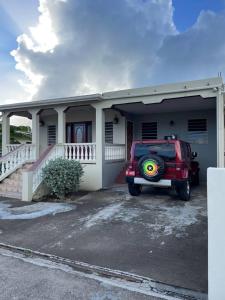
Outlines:
[[222, 77], [208, 78], [203, 80], [185, 81], [179, 83], [157, 85], [143, 88], [127, 89], [102, 94], [82, 95], [65, 98], [54, 98], [45, 100], [34, 100], [30, 102], [19, 102], [13, 104], [0, 105], [0, 111], [9, 111], [12, 109], [21, 110], [29, 108], [49, 107], [56, 105], [66, 105], [75, 103], [99, 102], [105, 100], [113, 100], [118, 98], [132, 98], [147, 95], [162, 95], [174, 92], [209, 90], [223, 87]]

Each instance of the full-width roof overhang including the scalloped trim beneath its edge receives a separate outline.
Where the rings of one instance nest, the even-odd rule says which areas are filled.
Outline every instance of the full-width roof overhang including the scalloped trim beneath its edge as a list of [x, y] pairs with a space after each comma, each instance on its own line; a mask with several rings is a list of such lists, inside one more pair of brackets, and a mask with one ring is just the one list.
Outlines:
[[216, 97], [218, 90], [223, 89], [222, 77], [203, 80], [185, 81], [173, 84], [157, 85], [136, 89], [127, 89], [103, 94], [83, 95], [67, 98], [46, 99], [40, 101], [20, 102], [0, 105], [1, 112], [22, 111], [31, 108], [54, 108], [55, 106], [80, 106], [101, 102], [102, 108], [130, 102], [144, 104], [160, 103], [164, 99], [181, 98], [199, 95], [203, 98]]

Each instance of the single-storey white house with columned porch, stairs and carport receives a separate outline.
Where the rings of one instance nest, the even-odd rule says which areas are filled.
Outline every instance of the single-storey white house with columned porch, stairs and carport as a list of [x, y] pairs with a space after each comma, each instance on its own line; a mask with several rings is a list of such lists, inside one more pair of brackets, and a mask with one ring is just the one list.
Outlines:
[[[218, 77], [1, 105], [0, 195], [31, 200], [40, 193], [43, 166], [56, 157], [83, 164], [82, 189], [111, 186], [129, 159], [132, 140], [171, 134], [198, 152], [204, 182], [208, 167], [224, 167], [223, 93]], [[12, 115], [32, 119], [32, 144], [9, 144]]]

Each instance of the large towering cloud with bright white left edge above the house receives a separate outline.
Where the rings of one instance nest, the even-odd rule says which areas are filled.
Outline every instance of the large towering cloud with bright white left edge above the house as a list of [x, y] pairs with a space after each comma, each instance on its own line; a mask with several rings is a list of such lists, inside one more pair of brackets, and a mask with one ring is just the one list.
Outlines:
[[176, 33], [168, 0], [40, 0], [40, 12], [13, 51], [35, 98], [148, 84], [157, 50]]

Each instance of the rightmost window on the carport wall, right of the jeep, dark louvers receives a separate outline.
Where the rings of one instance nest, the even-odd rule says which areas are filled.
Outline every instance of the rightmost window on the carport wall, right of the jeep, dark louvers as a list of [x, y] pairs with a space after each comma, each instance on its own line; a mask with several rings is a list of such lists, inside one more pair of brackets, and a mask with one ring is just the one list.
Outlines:
[[188, 120], [188, 141], [191, 144], [208, 144], [207, 119]]

